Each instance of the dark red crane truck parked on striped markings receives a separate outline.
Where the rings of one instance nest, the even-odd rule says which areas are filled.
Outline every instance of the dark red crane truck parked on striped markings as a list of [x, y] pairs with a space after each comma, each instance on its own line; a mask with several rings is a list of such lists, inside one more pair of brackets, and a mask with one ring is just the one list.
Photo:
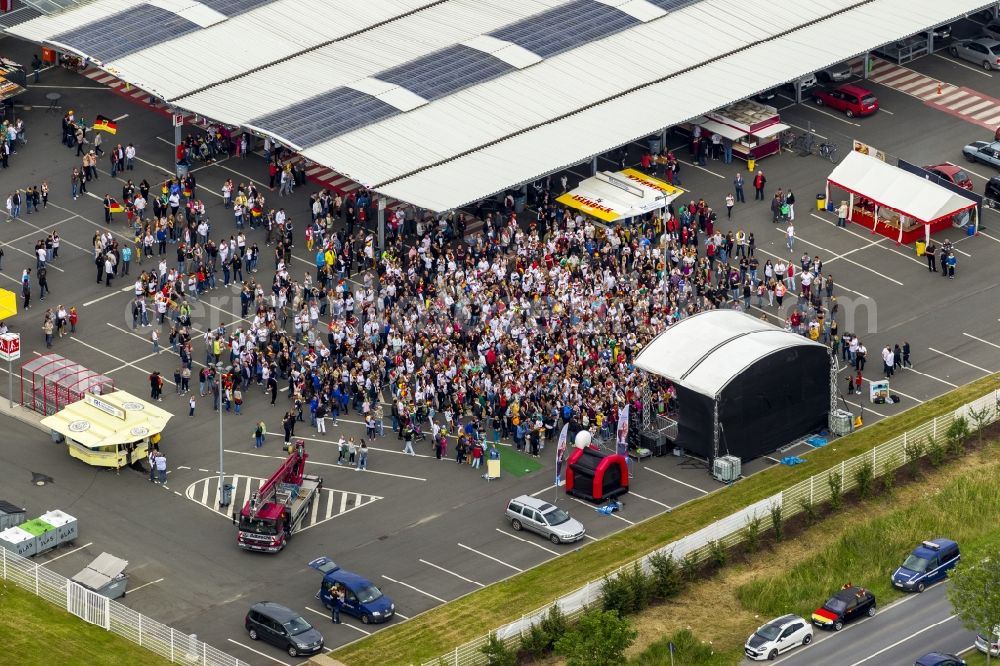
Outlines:
[[305, 441], [296, 440], [288, 459], [250, 495], [239, 515], [237, 543], [243, 550], [276, 553], [299, 529], [323, 479], [305, 473]]

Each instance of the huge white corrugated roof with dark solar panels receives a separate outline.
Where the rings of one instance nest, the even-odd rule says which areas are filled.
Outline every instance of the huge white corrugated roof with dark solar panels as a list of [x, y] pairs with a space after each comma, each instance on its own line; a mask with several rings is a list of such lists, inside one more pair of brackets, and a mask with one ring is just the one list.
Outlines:
[[[987, 4], [96, 0], [8, 32], [96, 57], [179, 109], [447, 210]], [[102, 15], [164, 11], [172, 32], [141, 44], [109, 46], [96, 23], [96, 35], [70, 34]]]

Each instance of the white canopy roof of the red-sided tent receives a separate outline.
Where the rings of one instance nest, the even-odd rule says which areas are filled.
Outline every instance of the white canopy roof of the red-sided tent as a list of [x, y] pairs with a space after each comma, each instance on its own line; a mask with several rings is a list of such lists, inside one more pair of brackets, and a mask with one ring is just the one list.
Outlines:
[[975, 207], [975, 202], [877, 157], [851, 151], [827, 180], [882, 208], [929, 224]]

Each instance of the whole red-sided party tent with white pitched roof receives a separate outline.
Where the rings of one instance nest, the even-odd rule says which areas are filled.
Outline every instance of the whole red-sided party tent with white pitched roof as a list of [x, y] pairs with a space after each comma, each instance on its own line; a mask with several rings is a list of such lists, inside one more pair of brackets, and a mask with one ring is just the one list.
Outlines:
[[897, 244], [926, 242], [931, 234], [956, 221], [967, 221], [970, 215], [979, 228], [976, 202], [857, 150], [849, 152], [827, 177], [827, 201], [833, 201], [831, 187], [848, 193], [852, 222]]

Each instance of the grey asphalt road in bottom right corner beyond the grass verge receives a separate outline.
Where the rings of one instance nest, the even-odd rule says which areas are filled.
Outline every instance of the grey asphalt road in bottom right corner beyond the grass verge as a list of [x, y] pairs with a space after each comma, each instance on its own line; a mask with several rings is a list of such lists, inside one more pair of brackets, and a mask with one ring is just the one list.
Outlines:
[[[957, 654], [973, 646], [947, 597], [947, 582], [910, 594], [839, 632], [815, 628], [811, 645], [775, 660], [786, 666], [909, 666], [928, 652]], [[745, 661], [744, 663], [753, 663]]]

